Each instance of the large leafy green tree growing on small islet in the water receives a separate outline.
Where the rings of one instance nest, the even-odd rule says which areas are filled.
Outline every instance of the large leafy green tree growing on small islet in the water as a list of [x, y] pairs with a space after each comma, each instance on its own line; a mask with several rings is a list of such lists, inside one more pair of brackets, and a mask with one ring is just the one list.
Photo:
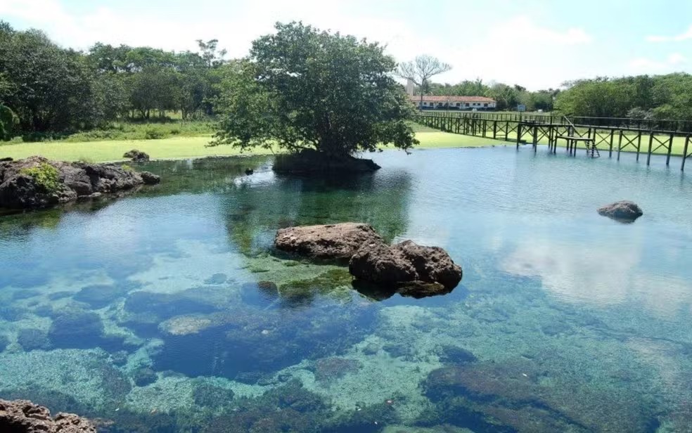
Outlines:
[[412, 107], [392, 78], [383, 46], [301, 22], [276, 24], [252, 43], [250, 56], [226, 67], [217, 106], [217, 144], [274, 143], [291, 152], [330, 156], [417, 143], [406, 122]]

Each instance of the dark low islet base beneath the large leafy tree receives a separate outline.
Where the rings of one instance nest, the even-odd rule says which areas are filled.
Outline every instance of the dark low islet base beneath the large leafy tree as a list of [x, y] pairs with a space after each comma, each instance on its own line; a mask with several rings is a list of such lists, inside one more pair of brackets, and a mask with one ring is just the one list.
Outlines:
[[333, 174], [375, 172], [380, 169], [380, 166], [373, 160], [363, 160], [352, 156], [326, 155], [316, 150], [303, 150], [295, 154], [277, 155], [272, 169], [277, 173]]

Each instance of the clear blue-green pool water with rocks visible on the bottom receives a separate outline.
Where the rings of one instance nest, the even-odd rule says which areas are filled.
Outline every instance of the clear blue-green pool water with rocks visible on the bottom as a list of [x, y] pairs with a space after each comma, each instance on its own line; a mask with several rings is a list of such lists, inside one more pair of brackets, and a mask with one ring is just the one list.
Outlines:
[[[690, 431], [679, 160], [372, 157], [321, 181], [152, 162], [164, 181], [136, 195], [2, 216], [0, 396], [112, 432]], [[644, 216], [596, 214], [622, 199]], [[271, 251], [276, 228], [338, 221], [440, 245], [463, 281], [382, 300]]]

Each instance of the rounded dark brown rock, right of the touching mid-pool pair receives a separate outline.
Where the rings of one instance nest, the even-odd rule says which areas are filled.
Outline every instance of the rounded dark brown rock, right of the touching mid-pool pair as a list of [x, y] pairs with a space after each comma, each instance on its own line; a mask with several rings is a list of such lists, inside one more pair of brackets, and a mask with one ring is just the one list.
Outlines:
[[363, 245], [351, 257], [349, 271], [359, 280], [397, 287], [402, 295], [423, 297], [450, 292], [461, 281], [461, 266], [440, 247], [411, 240], [388, 246]]

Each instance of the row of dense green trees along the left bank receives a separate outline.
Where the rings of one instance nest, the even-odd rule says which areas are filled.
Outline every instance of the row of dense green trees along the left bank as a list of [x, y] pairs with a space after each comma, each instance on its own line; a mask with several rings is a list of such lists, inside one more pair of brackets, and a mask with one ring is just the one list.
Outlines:
[[[39, 30], [0, 21], [0, 105], [14, 121], [4, 130], [69, 132], [115, 119], [151, 119], [167, 110], [185, 119], [210, 115], [225, 51], [217, 40], [199, 51], [95, 44], [65, 49]], [[2, 110], [0, 110], [2, 112]]]

